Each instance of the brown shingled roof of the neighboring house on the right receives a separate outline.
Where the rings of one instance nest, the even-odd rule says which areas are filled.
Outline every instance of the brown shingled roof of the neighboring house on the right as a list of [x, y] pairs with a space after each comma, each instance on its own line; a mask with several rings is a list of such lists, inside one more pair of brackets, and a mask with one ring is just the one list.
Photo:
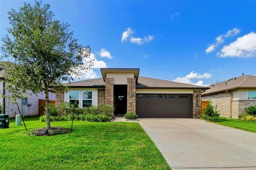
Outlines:
[[211, 89], [206, 90], [202, 93], [203, 96], [218, 93], [221, 91], [231, 90], [231, 89], [246, 89], [246, 88], [256, 88], [256, 76], [255, 75], [243, 75], [238, 78], [230, 79], [227, 81], [222, 81], [217, 84], [209, 86]]

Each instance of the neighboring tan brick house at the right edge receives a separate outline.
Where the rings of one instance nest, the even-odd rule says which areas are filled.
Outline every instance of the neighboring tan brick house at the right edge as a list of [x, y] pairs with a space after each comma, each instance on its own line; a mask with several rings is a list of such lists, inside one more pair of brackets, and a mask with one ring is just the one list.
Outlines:
[[256, 105], [256, 76], [243, 75], [209, 86], [202, 100], [218, 105], [221, 116], [238, 118], [247, 106]]

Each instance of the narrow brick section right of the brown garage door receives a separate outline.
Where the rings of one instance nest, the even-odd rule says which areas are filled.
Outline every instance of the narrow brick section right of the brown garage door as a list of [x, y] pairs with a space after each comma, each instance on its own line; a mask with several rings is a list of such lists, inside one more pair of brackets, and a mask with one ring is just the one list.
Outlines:
[[193, 118], [201, 116], [201, 90], [193, 90]]

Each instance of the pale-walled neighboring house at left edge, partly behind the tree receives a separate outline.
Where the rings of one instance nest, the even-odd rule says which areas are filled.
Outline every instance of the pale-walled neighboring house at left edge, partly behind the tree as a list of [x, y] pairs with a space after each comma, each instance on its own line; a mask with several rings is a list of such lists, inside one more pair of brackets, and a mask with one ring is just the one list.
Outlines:
[[[10, 96], [9, 91], [7, 91], [4, 87], [6, 86], [4, 82], [4, 76], [5, 70], [0, 65], [0, 94], [5, 94], [7, 96]], [[27, 98], [24, 100], [18, 100], [18, 105], [20, 108], [21, 114], [24, 116], [34, 116], [38, 115], [38, 105], [39, 105], [39, 99], [45, 99], [45, 94], [32, 94], [27, 95]], [[49, 99], [55, 100], [55, 93], [50, 92], [49, 93]], [[4, 113], [8, 114], [9, 117], [14, 117], [15, 114], [19, 114], [18, 107], [16, 104], [12, 104], [10, 102], [9, 98], [2, 98], [0, 99], [0, 103], [4, 106]]]

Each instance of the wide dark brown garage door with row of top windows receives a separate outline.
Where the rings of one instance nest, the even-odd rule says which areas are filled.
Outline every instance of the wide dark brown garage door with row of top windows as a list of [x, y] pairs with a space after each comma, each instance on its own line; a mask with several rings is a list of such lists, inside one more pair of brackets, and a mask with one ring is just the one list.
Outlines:
[[137, 94], [136, 113], [139, 117], [190, 118], [192, 95]]

